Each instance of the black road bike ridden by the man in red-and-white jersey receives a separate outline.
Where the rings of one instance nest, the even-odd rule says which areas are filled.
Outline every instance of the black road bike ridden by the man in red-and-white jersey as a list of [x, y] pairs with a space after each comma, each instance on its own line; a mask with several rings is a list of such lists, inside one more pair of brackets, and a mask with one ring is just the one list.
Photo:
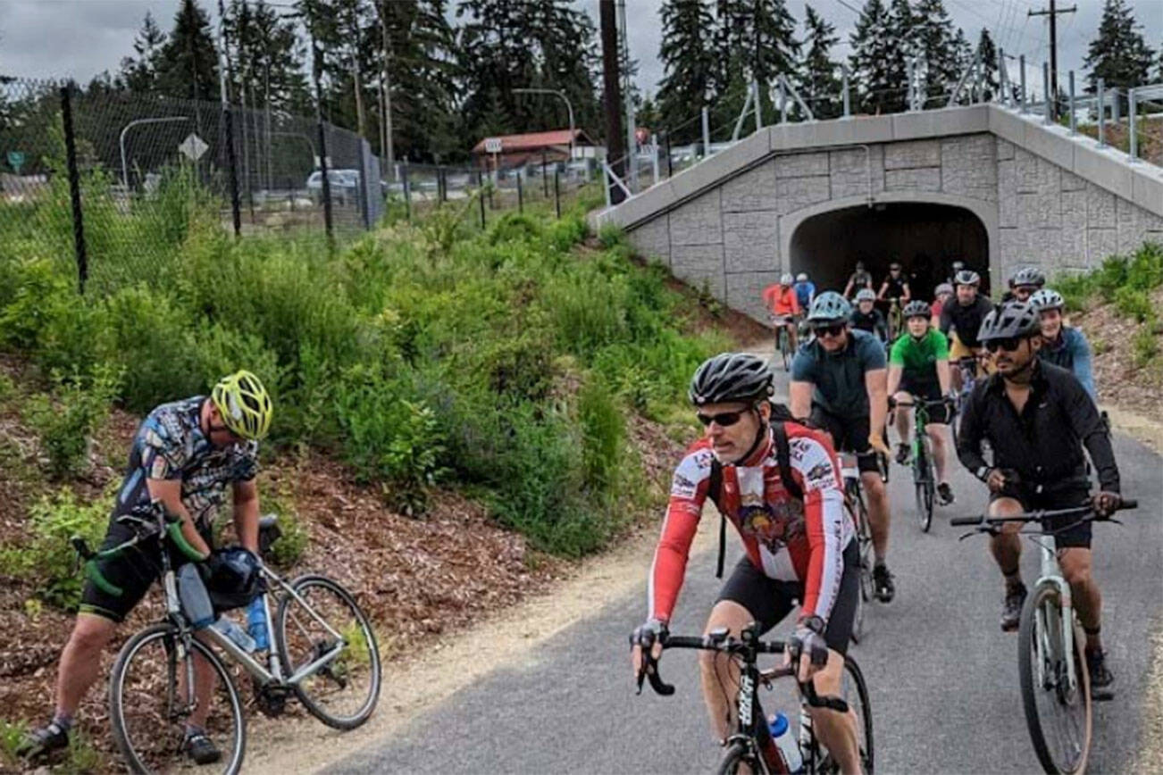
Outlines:
[[[758, 688], [772, 688], [772, 682], [795, 676], [794, 662], [786, 667], [761, 670], [757, 661], [759, 654], [782, 654], [787, 644], [772, 640], [759, 640], [758, 625], [754, 622], [743, 627], [740, 637], [732, 638], [727, 627], [712, 630], [699, 637], [668, 636], [662, 641], [663, 648], [695, 648], [727, 654], [740, 665], [739, 693], [736, 695], [735, 733], [727, 738], [727, 753], [719, 765], [720, 775], [734, 775], [741, 766], [750, 768], [751, 773], [776, 774], [786, 773], [783, 758], [776, 749], [768, 729], [768, 720], [759, 705]], [[638, 694], [642, 693], [643, 677], [650, 680], [650, 688], [656, 694], [669, 697], [675, 694], [675, 687], [665, 683], [658, 674], [658, 663], [649, 658], [650, 648], [643, 647], [645, 660], [643, 672], [638, 675]], [[873, 772], [872, 747], [872, 710], [869, 702], [868, 684], [864, 674], [851, 656], [844, 658], [844, 676], [842, 681], [843, 697], [820, 697], [811, 681], [795, 682], [800, 691], [799, 746], [804, 758], [806, 774], [839, 773], [840, 765], [820, 745], [812, 729], [808, 708], [827, 708], [839, 713], [850, 710], [856, 716], [856, 737], [859, 748], [861, 766], [865, 773]], [[855, 693], [855, 697], [851, 695]]]

